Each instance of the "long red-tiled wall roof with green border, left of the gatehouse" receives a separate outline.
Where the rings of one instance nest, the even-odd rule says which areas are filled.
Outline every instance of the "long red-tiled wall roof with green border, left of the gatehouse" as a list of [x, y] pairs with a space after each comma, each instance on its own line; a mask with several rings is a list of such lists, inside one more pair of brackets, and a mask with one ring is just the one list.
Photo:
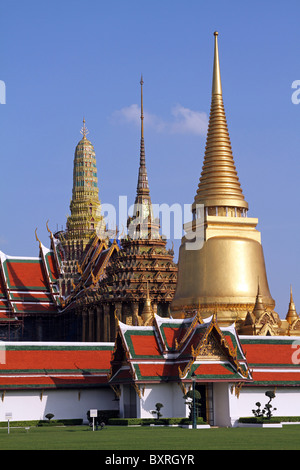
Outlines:
[[2, 391], [81, 389], [107, 384], [112, 343], [5, 342], [3, 345], [0, 351]]

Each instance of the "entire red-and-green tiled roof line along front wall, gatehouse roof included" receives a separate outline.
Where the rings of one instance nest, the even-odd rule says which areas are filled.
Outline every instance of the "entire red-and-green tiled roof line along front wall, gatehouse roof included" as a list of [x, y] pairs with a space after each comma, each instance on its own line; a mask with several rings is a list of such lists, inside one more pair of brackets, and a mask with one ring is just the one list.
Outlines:
[[162, 318], [153, 325], [118, 322], [114, 343], [4, 341], [0, 349], [0, 390], [227, 382], [238, 389], [299, 386], [298, 337], [239, 336], [234, 325]]

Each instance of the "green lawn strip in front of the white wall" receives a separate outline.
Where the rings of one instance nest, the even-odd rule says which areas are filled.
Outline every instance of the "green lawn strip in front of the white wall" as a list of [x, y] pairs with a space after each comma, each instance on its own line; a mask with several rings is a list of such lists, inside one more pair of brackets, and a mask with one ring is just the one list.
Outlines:
[[300, 425], [184, 429], [88, 426], [0, 429], [0, 450], [299, 450]]

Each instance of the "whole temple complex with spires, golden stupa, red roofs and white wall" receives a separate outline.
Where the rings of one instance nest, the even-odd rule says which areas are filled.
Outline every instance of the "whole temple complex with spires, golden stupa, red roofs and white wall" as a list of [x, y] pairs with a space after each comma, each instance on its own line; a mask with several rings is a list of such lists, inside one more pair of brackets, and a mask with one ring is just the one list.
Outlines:
[[[292, 288], [285, 318], [274, 310], [258, 221], [247, 216], [231, 151], [214, 35], [204, 163], [178, 266], [152, 211], [143, 80], [128, 233], [103, 236], [96, 176], [77, 168], [95, 162], [84, 124], [66, 232], [54, 236], [48, 229], [49, 250], [36, 234], [37, 258], [0, 252], [1, 421], [7, 412], [16, 421], [47, 412], [86, 420], [89, 408], [153, 418], [158, 402], [164, 418], [187, 418], [191, 390], [201, 396], [208, 428], [240, 426], [266, 396], [281, 421], [300, 420], [300, 319]], [[62, 292], [71, 262], [70, 292]]]

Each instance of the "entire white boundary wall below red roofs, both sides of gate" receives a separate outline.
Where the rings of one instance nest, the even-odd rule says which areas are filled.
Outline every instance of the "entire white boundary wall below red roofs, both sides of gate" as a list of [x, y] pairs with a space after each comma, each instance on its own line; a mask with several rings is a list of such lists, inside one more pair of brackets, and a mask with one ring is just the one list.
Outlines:
[[[266, 391], [274, 391], [276, 397], [272, 406], [277, 408], [274, 416], [300, 416], [300, 387], [242, 387], [239, 397], [231, 393], [232, 384], [213, 384], [213, 414], [215, 426], [237, 426], [240, 417], [252, 417], [256, 402], [262, 407], [268, 402]], [[136, 394], [129, 386], [131, 393]], [[123, 387], [122, 387], [123, 388]], [[126, 387], [125, 387], [126, 388]], [[122, 390], [123, 398], [126, 390]], [[47, 413], [54, 414], [54, 419], [83, 419], [90, 409], [113, 410], [119, 408], [122, 416], [124, 400], [115, 401], [110, 388], [72, 389], [72, 390], [8, 390], [0, 395], [0, 421], [6, 421], [6, 413], [11, 413], [11, 421], [30, 421], [45, 419]], [[127, 395], [126, 395], [127, 396]], [[126, 401], [126, 400], [125, 400]], [[177, 383], [152, 384], [141, 388], [141, 399], [134, 400], [138, 418], [152, 418], [156, 403], [162, 403], [163, 417], [185, 417], [189, 414], [183, 398], [183, 391]]]

